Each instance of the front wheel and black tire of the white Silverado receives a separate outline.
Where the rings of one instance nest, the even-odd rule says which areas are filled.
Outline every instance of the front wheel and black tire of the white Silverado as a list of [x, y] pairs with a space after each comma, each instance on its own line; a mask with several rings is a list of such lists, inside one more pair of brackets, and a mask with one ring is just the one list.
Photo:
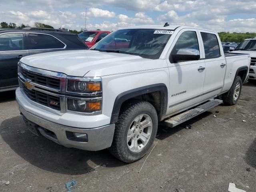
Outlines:
[[110, 153], [127, 163], [139, 160], [152, 146], [157, 127], [154, 106], [146, 101], [132, 100], [120, 111]]

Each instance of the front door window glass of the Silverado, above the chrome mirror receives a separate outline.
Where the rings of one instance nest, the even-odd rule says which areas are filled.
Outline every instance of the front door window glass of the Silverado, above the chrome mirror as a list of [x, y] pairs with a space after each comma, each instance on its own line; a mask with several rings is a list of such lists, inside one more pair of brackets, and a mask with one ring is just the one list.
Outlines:
[[180, 49], [196, 49], [199, 51], [198, 40], [195, 31], [183, 32], [178, 38], [172, 54], [177, 54]]

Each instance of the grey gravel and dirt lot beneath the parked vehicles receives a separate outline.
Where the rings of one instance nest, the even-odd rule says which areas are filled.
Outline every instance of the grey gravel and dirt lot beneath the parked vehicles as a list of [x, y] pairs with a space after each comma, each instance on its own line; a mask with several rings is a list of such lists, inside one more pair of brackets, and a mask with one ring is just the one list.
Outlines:
[[244, 85], [237, 105], [217, 106], [188, 124], [191, 129], [159, 127], [154, 145], [159, 142], [138, 173], [146, 156], [124, 164], [108, 150], [65, 148], [34, 136], [14, 92], [1, 93], [0, 191], [65, 192], [75, 179], [74, 192], [227, 192], [230, 182], [255, 192], [256, 83]]

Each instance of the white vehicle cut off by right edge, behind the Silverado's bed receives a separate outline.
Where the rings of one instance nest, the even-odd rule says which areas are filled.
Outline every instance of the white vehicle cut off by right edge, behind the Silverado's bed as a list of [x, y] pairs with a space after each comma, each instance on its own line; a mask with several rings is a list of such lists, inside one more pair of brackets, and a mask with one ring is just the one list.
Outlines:
[[251, 56], [249, 80], [256, 81], [256, 37], [243, 40], [234, 50], [234, 53], [247, 53]]

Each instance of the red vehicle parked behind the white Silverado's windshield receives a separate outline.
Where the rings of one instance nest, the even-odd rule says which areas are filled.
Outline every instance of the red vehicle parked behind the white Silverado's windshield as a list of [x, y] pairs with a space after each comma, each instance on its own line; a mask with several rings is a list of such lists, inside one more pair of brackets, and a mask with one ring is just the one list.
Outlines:
[[84, 43], [89, 48], [91, 48], [108, 34], [110, 34], [110, 31], [96, 30], [96, 31], [84, 31], [80, 33], [78, 36], [84, 41]]

